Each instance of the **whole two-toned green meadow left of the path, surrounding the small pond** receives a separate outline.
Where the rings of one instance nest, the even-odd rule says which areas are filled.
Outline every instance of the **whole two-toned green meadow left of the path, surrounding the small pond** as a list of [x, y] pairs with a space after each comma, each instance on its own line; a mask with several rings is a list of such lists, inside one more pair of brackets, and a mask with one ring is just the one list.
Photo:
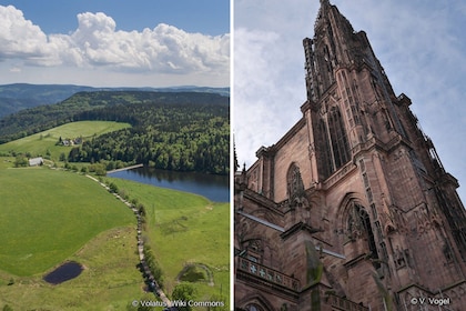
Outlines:
[[[133, 212], [84, 175], [13, 160], [0, 157], [0, 308], [124, 310], [140, 298]], [[69, 260], [78, 278], [43, 281]]]

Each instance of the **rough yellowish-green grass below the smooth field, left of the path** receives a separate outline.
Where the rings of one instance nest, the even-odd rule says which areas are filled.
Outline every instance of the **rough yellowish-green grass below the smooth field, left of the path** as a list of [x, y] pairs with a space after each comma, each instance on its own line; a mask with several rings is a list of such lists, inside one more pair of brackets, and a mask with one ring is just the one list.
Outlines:
[[[134, 227], [119, 227], [98, 234], [71, 255], [84, 265], [82, 273], [59, 285], [42, 274], [17, 277], [0, 271], [0, 310], [126, 310], [144, 294], [144, 282], [135, 268]], [[13, 284], [8, 285], [10, 281]]]

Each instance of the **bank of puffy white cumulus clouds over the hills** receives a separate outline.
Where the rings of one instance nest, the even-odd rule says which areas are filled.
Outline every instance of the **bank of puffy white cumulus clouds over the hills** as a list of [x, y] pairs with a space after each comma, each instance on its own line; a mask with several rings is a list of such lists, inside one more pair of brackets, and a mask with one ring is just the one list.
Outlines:
[[84, 12], [78, 14], [78, 28], [70, 34], [48, 36], [12, 6], [0, 6], [0, 60], [183, 74], [224, 74], [230, 70], [227, 33], [189, 33], [164, 23], [143, 31], [122, 31], [105, 13]]

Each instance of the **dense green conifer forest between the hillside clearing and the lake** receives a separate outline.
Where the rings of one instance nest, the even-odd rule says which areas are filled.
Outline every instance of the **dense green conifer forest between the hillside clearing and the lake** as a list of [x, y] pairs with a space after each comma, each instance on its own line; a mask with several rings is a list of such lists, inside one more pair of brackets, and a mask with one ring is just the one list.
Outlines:
[[115, 120], [133, 128], [84, 141], [70, 162], [123, 161], [158, 169], [229, 172], [229, 107], [219, 103], [120, 104], [83, 113], [82, 120]]

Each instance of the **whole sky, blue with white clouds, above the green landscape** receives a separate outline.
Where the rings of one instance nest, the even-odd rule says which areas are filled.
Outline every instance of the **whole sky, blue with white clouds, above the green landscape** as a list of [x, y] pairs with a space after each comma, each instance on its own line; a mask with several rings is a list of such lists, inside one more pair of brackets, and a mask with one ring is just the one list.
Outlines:
[[0, 84], [230, 86], [227, 0], [0, 0]]

